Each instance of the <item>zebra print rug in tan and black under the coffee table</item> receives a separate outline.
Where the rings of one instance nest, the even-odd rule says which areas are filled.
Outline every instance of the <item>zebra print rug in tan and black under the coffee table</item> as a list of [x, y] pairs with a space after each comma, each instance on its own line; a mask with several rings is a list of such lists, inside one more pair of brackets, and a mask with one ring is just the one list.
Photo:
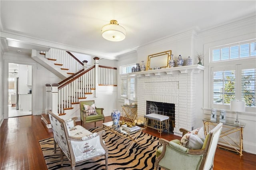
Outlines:
[[[91, 132], [105, 130], [106, 136], [110, 130], [104, 127], [93, 128]], [[111, 134], [105, 142], [108, 147], [108, 169], [109, 170], [154, 170], [154, 162], [156, 158], [156, 148], [158, 148], [158, 137], [142, 132], [137, 138], [138, 144], [134, 144], [129, 152], [125, 155], [130, 147], [132, 140], [128, 140], [123, 136]], [[70, 162], [64, 156], [63, 166], [60, 166], [60, 148], [57, 148], [54, 154], [53, 138], [47, 138], [39, 141], [46, 165], [49, 170], [70, 170]], [[104, 170], [105, 157], [101, 156], [85, 162], [76, 164], [76, 170]]]

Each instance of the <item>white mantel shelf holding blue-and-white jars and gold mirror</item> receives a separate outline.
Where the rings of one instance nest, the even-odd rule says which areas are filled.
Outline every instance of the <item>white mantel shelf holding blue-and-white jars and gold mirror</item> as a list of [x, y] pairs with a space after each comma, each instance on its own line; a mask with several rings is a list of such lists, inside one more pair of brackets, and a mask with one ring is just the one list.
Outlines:
[[139, 71], [135, 73], [129, 73], [129, 75], [137, 75], [137, 77], [147, 77], [154, 75], [172, 75], [179, 73], [200, 73], [200, 71], [204, 70], [205, 67], [199, 64], [195, 65], [187, 65], [166, 69], [156, 69], [156, 70], [148, 70], [148, 71]]

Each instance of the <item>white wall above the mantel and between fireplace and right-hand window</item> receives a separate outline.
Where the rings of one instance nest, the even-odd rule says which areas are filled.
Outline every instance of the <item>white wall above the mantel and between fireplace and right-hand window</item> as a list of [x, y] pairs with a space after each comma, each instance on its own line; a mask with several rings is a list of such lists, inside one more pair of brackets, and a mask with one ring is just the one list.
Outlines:
[[[204, 53], [205, 58], [202, 61], [206, 69], [199, 74], [196, 74], [196, 127], [202, 127], [202, 119], [210, 117], [209, 110], [209, 89], [208, 89], [208, 58], [210, 44], [218, 44], [223, 42], [224, 44], [230, 42], [239, 42], [241, 40], [250, 40], [256, 37], [256, 17], [244, 19], [242, 21], [236, 21], [232, 24], [223, 25], [214, 29], [205, 30], [202, 32], [195, 32], [194, 30], [184, 32], [164, 40], [154, 42], [137, 50], [137, 55], [133, 53], [133, 59], [137, 59], [137, 63], [141, 63], [142, 60], [147, 61], [148, 55], [159, 53], [163, 51], [172, 50], [174, 59], [177, 61], [178, 55], [182, 55], [183, 59], [190, 56], [193, 59], [193, 64], [198, 63], [198, 59], [195, 58], [196, 53]], [[224, 45], [223, 44], [223, 45]], [[219, 44], [220, 45], [220, 44]], [[124, 65], [134, 63], [134, 61], [128, 60], [131, 54], [122, 55], [118, 61], [118, 65]], [[146, 62], [147, 63], [147, 62]], [[119, 81], [118, 81], [119, 82]], [[122, 100], [118, 100], [119, 103]], [[229, 118], [227, 118], [229, 119]], [[235, 115], [230, 115], [230, 119], [235, 119]], [[256, 154], [256, 114], [248, 113], [242, 115], [240, 119], [243, 119], [246, 123], [244, 128], [244, 150]]]

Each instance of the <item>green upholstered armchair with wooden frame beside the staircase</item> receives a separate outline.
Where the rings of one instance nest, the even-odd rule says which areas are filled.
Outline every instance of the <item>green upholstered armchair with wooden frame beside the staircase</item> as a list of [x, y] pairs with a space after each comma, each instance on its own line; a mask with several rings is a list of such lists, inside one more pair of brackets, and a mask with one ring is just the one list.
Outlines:
[[92, 105], [94, 104], [94, 100], [89, 100], [89, 101], [80, 101], [80, 116], [81, 116], [81, 125], [84, 127], [86, 123], [92, 123], [94, 122], [94, 127], [96, 127], [96, 122], [97, 121], [105, 121], [105, 117], [103, 114], [103, 108], [97, 108], [96, 113], [97, 115], [88, 115], [86, 116], [85, 111], [84, 111], [84, 105]]

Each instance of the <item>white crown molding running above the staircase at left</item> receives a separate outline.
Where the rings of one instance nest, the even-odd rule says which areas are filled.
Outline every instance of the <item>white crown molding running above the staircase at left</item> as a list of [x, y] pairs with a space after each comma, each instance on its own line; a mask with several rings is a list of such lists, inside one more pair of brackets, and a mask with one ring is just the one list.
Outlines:
[[16, 35], [16, 34], [12, 34], [9, 32], [0, 32], [0, 37], [5, 38], [5, 39], [10, 38], [10, 39], [17, 40], [19, 42], [30, 44], [30, 45], [38, 45], [38, 46], [42, 46], [42, 47], [62, 49], [65, 51], [84, 53], [87, 55], [92, 55], [93, 57], [100, 57], [100, 58], [112, 59], [112, 60], [118, 59], [117, 55], [115, 55], [115, 54], [101, 53], [101, 52], [92, 51], [89, 49], [81, 49], [81, 48], [73, 47], [70, 45], [62, 44], [62, 43], [56, 43], [56, 42], [50, 42], [50, 41], [42, 40], [42, 39], [25, 37], [22, 35], [18, 35], [18, 34]]

